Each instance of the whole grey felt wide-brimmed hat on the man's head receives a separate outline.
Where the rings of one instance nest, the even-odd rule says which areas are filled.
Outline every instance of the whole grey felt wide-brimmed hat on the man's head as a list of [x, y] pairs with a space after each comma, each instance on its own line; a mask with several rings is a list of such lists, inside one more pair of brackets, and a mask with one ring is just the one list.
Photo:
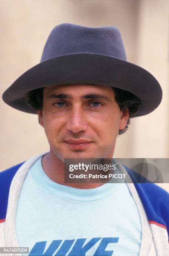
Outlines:
[[120, 32], [114, 26], [56, 26], [40, 63], [17, 79], [3, 93], [3, 100], [18, 110], [36, 113], [25, 102], [27, 92], [57, 84], [95, 84], [129, 91], [141, 100], [135, 116], [152, 112], [162, 98], [159, 82], [145, 69], [126, 61]]

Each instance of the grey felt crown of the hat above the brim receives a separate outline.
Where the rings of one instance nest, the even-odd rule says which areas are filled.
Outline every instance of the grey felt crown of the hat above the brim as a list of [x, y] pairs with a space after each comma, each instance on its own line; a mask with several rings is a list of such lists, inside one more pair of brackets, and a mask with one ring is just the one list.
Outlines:
[[126, 61], [121, 34], [114, 26], [89, 28], [70, 23], [50, 32], [40, 62], [73, 53], [96, 53]]

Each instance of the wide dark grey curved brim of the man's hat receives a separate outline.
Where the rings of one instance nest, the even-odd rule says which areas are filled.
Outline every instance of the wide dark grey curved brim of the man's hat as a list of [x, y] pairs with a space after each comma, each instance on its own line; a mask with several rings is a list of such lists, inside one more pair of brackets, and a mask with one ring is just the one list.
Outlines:
[[57, 84], [95, 84], [129, 91], [141, 100], [133, 117], [151, 113], [162, 99], [159, 82], [145, 69], [103, 54], [77, 53], [32, 67], [3, 93], [3, 100], [15, 109], [36, 114], [25, 102], [26, 93]]

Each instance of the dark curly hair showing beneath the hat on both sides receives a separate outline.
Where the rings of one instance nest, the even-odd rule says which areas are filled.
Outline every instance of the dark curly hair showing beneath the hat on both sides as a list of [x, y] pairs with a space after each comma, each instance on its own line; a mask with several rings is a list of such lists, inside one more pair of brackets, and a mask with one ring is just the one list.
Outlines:
[[[43, 89], [38, 88], [28, 92], [25, 96], [25, 101], [30, 108], [34, 110], [42, 110], [43, 108]], [[141, 106], [141, 100], [131, 92], [112, 87], [115, 93], [115, 100], [119, 105], [120, 110], [129, 108], [129, 119], [127, 121], [126, 127], [123, 130], [119, 130], [119, 134], [124, 133], [130, 123], [130, 118], [137, 113]]]

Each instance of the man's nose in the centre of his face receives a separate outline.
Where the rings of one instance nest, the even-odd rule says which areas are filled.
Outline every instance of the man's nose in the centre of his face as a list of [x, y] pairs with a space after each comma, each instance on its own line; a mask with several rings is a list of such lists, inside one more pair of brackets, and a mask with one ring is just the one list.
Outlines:
[[68, 121], [66, 123], [66, 128], [68, 131], [73, 133], [78, 133], [80, 131], [86, 131], [87, 121], [86, 113], [81, 107], [74, 107], [69, 113]]

